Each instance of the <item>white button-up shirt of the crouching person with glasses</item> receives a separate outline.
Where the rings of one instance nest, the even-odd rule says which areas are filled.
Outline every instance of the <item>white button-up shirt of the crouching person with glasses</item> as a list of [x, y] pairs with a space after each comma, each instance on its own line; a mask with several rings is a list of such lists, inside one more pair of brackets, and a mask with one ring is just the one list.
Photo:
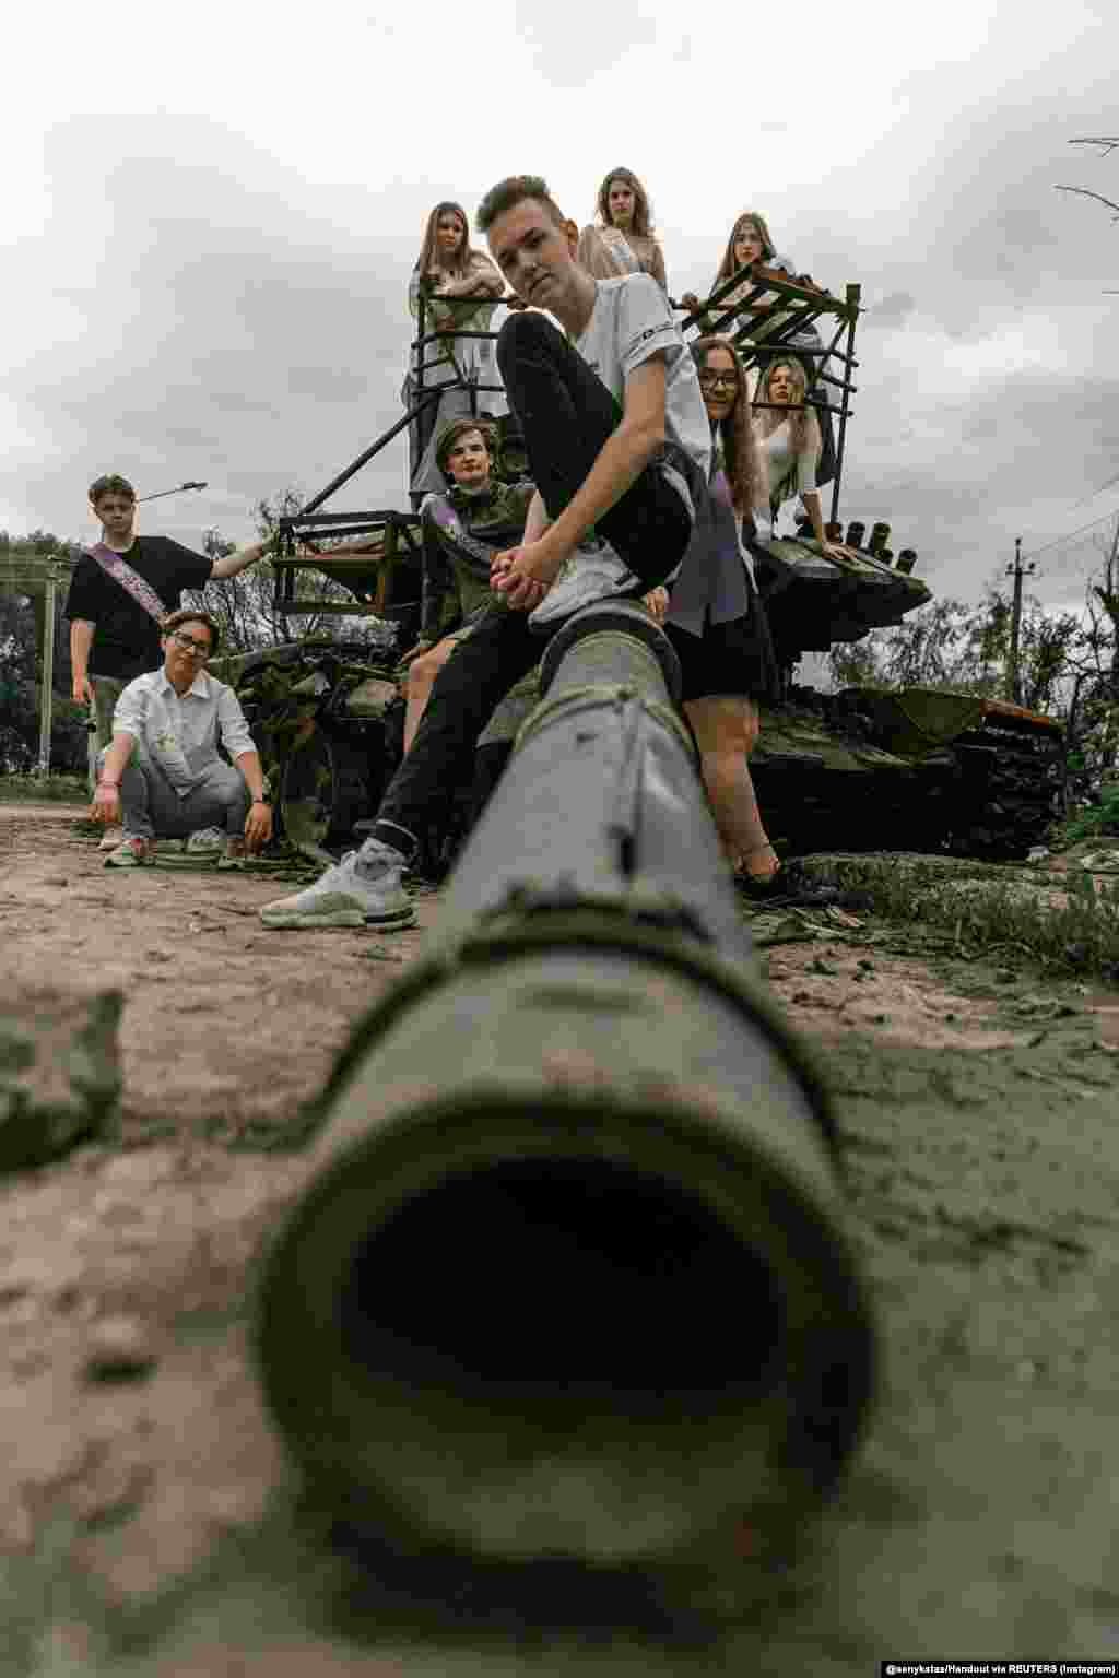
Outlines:
[[257, 750], [233, 688], [205, 670], [181, 696], [163, 670], [136, 676], [116, 701], [112, 733], [131, 733], [180, 799], [220, 760], [218, 742], [235, 762]]

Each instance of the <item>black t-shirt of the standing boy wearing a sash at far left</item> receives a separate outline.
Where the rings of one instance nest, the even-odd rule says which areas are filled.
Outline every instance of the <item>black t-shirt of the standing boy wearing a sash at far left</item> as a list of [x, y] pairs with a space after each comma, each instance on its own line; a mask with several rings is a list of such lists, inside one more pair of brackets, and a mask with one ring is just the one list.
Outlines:
[[[203, 554], [191, 554], [181, 542], [173, 542], [169, 535], [138, 535], [121, 557], [151, 584], [169, 612], [183, 604], [183, 589], [201, 589], [210, 582], [211, 562]], [[89, 554], [82, 554], [74, 567], [65, 616], [86, 618], [96, 624], [89, 649], [92, 676], [131, 681], [163, 664], [154, 618], [114, 577], [106, 576]]]

